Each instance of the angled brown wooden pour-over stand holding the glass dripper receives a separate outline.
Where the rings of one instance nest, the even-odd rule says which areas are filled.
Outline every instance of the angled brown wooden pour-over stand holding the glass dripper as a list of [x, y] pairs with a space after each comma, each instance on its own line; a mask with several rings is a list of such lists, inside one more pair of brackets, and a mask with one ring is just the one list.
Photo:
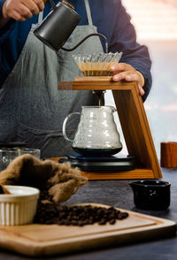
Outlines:
[[150, 126], [139, 94], [137, 83], [115, 82], [110, 76], [76, 77], [74, 81], [58, 83], [58, 89], [106, 90], [112, 95], [119, 114], [119, 121], [130, 156], [137, 167], [125, 172], [81, 172], [89, 180], [159, 179], [162, 173], [150, 134]]

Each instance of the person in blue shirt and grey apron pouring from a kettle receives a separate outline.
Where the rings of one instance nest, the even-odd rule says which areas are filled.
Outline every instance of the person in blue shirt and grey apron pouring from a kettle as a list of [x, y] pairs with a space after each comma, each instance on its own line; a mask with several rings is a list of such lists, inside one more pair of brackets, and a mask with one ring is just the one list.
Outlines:
[[[137, 80], [144, 101], [151, 86], [150, 57], [147, 48], [136, 42], [135, 29], [121, 1], [70, 3], [81, 15], [81, 22], [65, 47], [71, 48], [88, 34], [104, 34], [109, 51], [123, 52], [120, 63], [112, 65], [113, 80]], [[82, 105], [97, 105], [91, 91], [58, 90], [58, 81], [81, 76], [72, 55], [104, 51], [104, 42], [97, 36], [72, 52], [50, 50], [33, 34], [50, 8], [50, 3], [44, 5], [42, 0], [0, 0], [0, 141], [26, 141], [28, 147], [41, 149], [42, 157], [69, 151], [71, 145], [61, 131], [66, 115], [81, 110]], [[75, 127], [71, 122], [70, 134]]]

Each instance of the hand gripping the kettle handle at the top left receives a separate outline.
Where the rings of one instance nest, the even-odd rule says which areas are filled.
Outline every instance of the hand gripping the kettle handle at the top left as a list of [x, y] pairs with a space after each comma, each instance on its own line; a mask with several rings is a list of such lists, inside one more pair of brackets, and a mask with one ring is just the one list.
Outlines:
[[44, 9], [42, 0], [6, 0], [3, 6], [4, 18], [24, 21]]

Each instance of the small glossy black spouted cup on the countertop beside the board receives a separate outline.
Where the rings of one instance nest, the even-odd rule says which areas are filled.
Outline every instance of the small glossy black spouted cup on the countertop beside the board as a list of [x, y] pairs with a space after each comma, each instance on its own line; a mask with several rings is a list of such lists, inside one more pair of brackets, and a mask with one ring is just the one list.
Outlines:
[[138, 180], [131, 182], [134, 203], [142, 210], [166, 210], [170, 206], [170, 182]]

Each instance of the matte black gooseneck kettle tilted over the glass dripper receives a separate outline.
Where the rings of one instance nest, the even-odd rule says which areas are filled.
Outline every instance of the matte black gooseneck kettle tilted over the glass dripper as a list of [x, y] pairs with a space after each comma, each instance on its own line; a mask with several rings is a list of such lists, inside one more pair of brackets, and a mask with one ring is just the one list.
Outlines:
[[[46, 1], [45, 1], [46, 2]], [[57, 5], [52, 0], [49, 0], [52, 10], [48, 16], [35, 28], [34, 34], [43, 43], [48, 45], [52, 50], [60, 49], [66, 51], [75, 50], [82, 42], [85, 42], [91, 36], [100, 36], [105, 41], [106, 53], [108, 52], [108, 43], [104, 34], [89, 34], [78, 42], [72, 49], [62, 47], [69, 36], [73, 33], [74, 28], [81, 20], [80, 15], [74, 11], [72, 4], [62, 1]]]

